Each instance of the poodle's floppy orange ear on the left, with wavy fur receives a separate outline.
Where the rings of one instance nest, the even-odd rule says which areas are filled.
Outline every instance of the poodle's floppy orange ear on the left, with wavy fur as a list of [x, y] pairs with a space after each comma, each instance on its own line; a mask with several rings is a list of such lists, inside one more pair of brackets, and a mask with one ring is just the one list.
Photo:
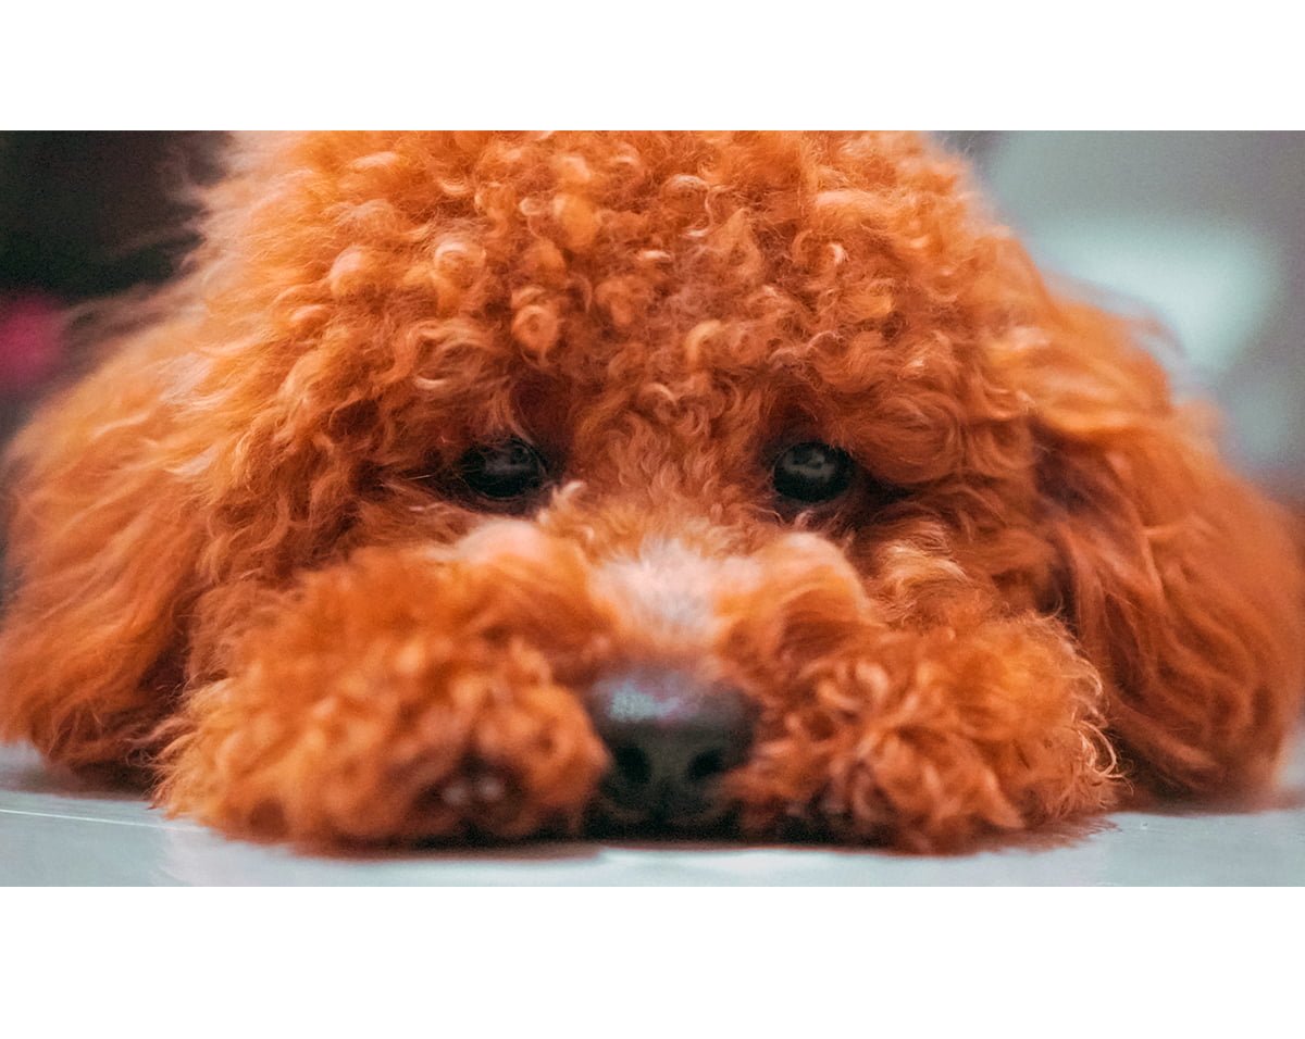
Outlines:
[[176, 334], [51, 402], [8, 456], [0, 737], [74, 768], [145, 764], [181, 683], [202, 527], [150, 356]]

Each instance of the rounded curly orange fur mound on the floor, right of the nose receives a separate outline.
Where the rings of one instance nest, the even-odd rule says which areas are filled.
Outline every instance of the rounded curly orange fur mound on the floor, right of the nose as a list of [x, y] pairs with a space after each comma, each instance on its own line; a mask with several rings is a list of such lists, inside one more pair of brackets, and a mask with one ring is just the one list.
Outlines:
[[1108, 807], [1100, 682], [1053, 626], [889, 634], [763, 696], [736, 778], [753, 833], [949, 851]]

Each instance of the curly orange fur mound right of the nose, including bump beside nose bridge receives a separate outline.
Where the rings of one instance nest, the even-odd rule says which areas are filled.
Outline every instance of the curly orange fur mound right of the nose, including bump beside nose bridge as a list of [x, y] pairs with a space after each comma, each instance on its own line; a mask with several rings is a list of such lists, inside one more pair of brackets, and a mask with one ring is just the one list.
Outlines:
[[816, 538], [758, 562], [718, 651], [762, 705], [732, 777], [746, 829], [938, 851], [1112, 803], [1100, 680], [1057, 622], [960, 587], [891, 617]]

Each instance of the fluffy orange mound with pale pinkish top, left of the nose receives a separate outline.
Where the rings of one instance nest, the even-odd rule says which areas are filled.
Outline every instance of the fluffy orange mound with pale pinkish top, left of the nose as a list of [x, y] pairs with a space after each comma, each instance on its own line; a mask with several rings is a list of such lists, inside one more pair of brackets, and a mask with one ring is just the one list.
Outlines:
[[583, 585], [515, 523], [308, 575], [191, 695], [159, 799], [315, 845], [572, 828], [607, 760], [570, 691], [603, 630]]

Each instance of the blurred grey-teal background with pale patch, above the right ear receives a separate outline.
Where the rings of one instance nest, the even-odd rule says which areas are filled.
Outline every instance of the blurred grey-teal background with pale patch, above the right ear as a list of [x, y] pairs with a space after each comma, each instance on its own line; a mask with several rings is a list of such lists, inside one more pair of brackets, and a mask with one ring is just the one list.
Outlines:
[[1305, 502], [1305, 134], [950, 133], [1044, 269], [1173, 334], [1223, 443]]

